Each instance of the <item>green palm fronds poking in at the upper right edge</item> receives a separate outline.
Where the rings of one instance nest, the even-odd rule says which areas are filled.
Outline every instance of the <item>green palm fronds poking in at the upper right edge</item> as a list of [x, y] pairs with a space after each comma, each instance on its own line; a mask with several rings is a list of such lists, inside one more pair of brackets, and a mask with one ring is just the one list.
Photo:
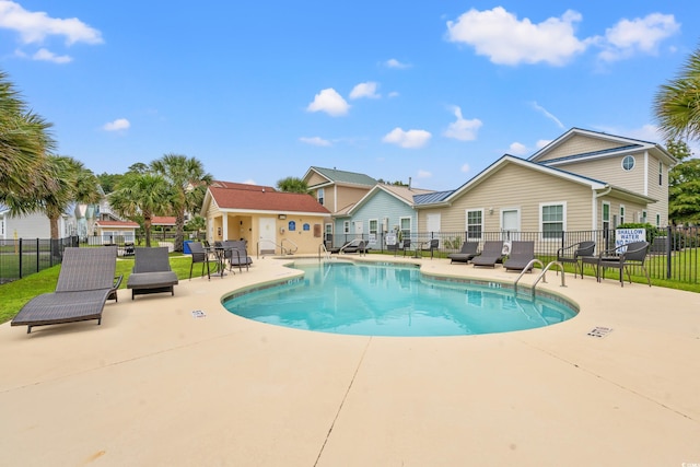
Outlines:
[[700, 49], [678, 77], [661, 86], [654, 98], [658, 129], [666, 140], [700, 139]]

